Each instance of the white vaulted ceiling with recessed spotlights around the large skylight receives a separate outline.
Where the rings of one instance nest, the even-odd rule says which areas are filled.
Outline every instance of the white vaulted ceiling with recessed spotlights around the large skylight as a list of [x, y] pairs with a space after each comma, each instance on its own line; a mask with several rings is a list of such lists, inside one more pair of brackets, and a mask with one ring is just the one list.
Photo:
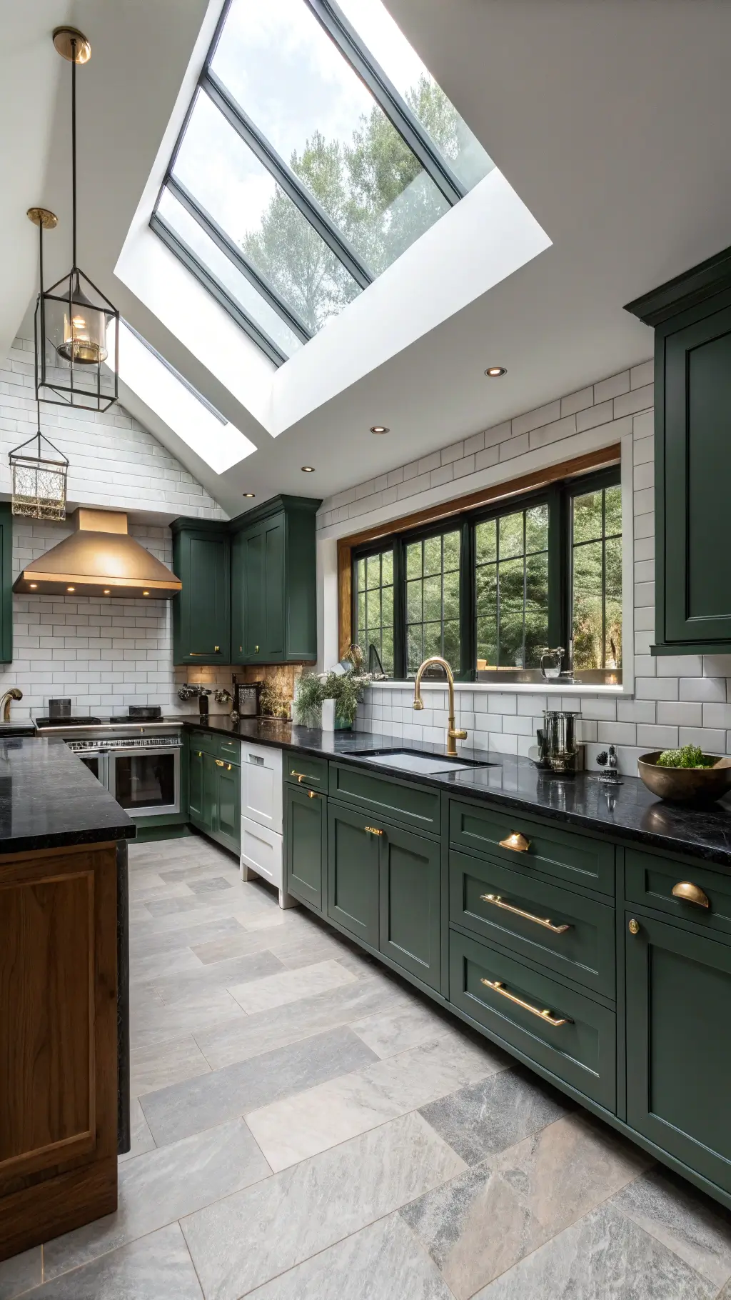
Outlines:
[[[248, 339], [240, 352], [229, 339], [236, 382], [223, 382], [212, 356], [204, 360], [178, 328], [171, 298], [157, 311], [144, 306], [144, 266], [135, 281], [119, 261], [135, 220], [145, 226], [144, 203], [148, 213], [219, 0], [3, 5], [13, 39], [0, 77], [0, 350], [23, 320], [27, 329], [35, 294], [29, 205], [43, 203], [61, 218], [47, 242], [49, 276], [70, 261], [68, 65], [53, 52], [51, 30], [71, 21], [92, 43], [79, 72], [79, 261], [256, 448], [216, 473], [160, 412], [149, 417], [231, 512], [242, 508], [244, 490], [257, 502], [275, 491], [327, 495], [644, 360], [650, 332], [623, 304], [731, 243], [725, 0], [387, 5], [545, 233], [543, 251], [492, 282], [486, 272], [491, 287], [471, 302], [444, 291], [441, 320], [430, 315], [430, 286], [409, 289], [405, 273], [392, 277], [390, 302], [382, 287], [388, 272], [275, 373], [252, 358]], [[467, 218], [465, 208], [458, 220]], [[453, 238], [457, 244], [457, 222]], [[496, 256], [495, 238], [484, 226], [483, 266]], [[447, 278], [453, 283], [453, 274]], [[373, 318], [353, 312], [348, 321], [369, 294]], [[423, 321], [412, 338], [397, 328], [405, 298]], [[180, 311], [184, 295], [175, 302]], [[373, 343], [379, 313], [393, 335], [391, 354]], [[489, 363], [506, 365], [508, 376], [487, 381]], [[318, 365], [327, 382], [316, 378]], [[375, 422], [391, 434], [374, 439], [367, 429]], [[303, 464], [317, 473], [303, 476]]]

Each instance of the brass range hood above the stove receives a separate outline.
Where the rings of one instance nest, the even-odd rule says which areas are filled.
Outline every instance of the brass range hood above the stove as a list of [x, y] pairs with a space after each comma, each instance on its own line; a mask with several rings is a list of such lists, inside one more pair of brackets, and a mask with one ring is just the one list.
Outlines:
[[25, 595], [109, 595], [170, 599], [182, 582], [127, 533], [127, 516], [79, 507], [74, 532], [13, 582]]

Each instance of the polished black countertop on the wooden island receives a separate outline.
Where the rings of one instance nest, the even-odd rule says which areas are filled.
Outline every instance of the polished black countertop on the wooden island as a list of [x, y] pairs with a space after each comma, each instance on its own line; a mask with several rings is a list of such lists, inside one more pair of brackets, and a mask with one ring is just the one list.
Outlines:
[[64, 741], [0, 738], [0, 853], [135, 833], [134, 822]]

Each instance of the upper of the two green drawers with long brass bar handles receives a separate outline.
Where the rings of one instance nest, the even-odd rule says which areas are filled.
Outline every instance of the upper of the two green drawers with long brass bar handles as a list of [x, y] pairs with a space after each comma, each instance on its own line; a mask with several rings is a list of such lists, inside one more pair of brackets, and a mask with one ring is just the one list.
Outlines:
[[452, 850], [449, 919], [596, 993], [615, 996], [615, 913], [606, 904]]

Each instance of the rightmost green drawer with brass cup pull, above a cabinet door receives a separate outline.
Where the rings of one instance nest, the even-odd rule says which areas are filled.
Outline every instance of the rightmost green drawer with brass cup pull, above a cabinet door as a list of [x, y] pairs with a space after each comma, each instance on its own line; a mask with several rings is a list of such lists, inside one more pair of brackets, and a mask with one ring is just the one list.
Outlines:
[[[680, 885], [695, 885], [696, 889], [686, 888], [674, 894], [673, 889]], [[713, 931], [715, 939], [726, 937], [731, 942], [731, 876], [700, 862], [688, 866], [661, 854], [626, 849], [625, 889], [630, 902], [692, 920]], [[683, 893], [692, 893], [699, 902], [683, 897]], [[708, 906], [702, 904], [704, 898]]]

